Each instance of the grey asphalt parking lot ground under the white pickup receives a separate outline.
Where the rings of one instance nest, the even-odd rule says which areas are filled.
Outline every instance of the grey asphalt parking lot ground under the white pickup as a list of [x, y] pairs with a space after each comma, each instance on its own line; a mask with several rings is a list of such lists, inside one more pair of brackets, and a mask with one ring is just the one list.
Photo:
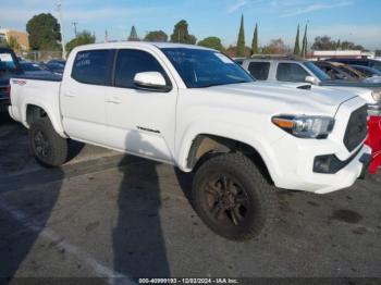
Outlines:
[[190, 175], [81, 144], [42, 169], [27, 131], [1, 120], [2, 277], [381, 277], [380, 173], [324, 196], [280, 191], [271, 230], [237, 244], [198, 219]]

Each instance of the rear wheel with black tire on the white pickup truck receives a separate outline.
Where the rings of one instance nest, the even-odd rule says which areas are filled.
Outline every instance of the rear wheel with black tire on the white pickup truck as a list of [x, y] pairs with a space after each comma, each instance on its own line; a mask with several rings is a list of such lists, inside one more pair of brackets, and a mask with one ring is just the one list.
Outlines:
[[48, 117], [35, 121], [29, 128], [29, 146], [38, 163], [45, 168], [60, 166], [67, 159], [67, 139], [60, 137]]

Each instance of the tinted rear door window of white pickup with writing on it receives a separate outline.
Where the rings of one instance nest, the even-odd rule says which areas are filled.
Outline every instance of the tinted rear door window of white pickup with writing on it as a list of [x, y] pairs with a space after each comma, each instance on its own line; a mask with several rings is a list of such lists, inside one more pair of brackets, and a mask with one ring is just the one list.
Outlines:
[[77, 82], [109, 85], [112, 50], [86, 50], [76, 54], [72, 77]]

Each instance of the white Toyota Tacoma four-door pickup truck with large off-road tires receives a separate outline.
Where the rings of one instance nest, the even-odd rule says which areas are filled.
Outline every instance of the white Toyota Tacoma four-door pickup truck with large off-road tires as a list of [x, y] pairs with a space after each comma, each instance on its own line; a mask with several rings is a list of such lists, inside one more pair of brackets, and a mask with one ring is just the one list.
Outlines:
[[359, 97], [262, 85], [195, 46], [78, 47], [61, 82], [11, 79], [9, 112], [44, 165], [66, 161], [70, 138], [194, 171], [196, 211], [234, 240], [261, 232], [275, 187], [339, 190], [370, 160]]

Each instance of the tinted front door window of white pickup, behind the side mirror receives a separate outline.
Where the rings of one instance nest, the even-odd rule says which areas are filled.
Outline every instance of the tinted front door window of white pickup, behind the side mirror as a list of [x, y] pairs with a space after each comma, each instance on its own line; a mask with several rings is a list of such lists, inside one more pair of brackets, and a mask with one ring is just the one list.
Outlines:
[[167, 78], [160, 63], [148, 52], [134, 49], [120, 50], [115, 66], [115, 86], [135, 88], [134, 77], [139, 72], [160, 72]]

